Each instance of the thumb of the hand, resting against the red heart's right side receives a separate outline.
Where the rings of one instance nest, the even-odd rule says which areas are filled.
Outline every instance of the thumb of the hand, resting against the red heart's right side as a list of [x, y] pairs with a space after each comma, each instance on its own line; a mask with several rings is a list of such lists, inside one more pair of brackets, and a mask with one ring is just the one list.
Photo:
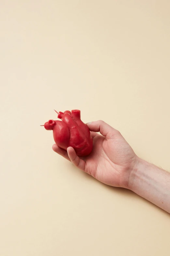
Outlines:
[[90, 131], [99, 131], [103, 136], [106, 137], [106, 139], [111, 139], [114, 135], [120, 134], [118, 130], [114, 129], [102, 120], [87, 123], [87, 126], [89, 127]]

